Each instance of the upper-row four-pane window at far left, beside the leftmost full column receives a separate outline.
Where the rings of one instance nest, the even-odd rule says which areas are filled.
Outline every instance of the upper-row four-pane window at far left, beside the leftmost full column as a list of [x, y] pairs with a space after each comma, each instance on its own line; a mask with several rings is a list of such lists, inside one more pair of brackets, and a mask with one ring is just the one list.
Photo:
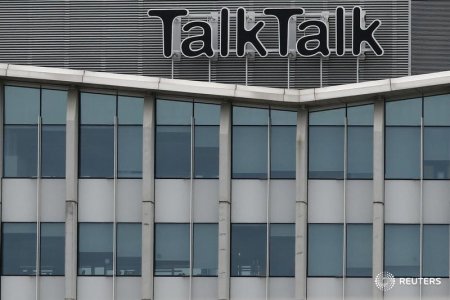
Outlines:
[[38, 163], [42, 177], [65, 176], [66, 103], [66, 91], [5, 86], [5, 177], [36, 177]]

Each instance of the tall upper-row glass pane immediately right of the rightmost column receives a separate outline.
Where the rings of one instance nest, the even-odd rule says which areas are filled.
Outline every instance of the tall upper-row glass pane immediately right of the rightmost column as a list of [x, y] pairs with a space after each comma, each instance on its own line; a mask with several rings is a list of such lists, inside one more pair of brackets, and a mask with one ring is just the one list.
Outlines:
[[386, 179], [420, 177], [420, 128], [386, 127]]

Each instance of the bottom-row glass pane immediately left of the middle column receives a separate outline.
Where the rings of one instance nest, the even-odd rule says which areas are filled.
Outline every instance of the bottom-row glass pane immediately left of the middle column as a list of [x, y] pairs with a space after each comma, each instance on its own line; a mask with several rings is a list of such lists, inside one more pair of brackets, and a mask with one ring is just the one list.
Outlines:
[[217, 224], [194, 224], [194, 276], [217, 276]]

